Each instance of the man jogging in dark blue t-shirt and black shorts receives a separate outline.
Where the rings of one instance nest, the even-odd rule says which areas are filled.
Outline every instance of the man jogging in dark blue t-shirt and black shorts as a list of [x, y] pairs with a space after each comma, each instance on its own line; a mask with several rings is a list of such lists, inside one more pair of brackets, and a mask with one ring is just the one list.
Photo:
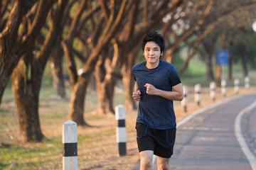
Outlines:
[[153, 154], [157, 156], [158, 169], [169, 169], [176, 137], [173, 101], [183, 99], [183, 87], [176, 68], [160, 60], [164, 38], [159, 33], [146, 35], [142, 50], [146, 62], [132, 67], [132, 97], [139, 101], [136, 130], [140, 169], [151, 169]]

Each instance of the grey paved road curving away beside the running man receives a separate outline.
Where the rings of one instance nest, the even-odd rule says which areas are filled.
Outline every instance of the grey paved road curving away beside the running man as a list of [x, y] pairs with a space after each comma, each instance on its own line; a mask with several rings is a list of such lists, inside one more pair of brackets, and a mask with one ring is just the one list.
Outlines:
[[171, 169], [256, 170], [255, 101], [235, 96], [179, 122]]

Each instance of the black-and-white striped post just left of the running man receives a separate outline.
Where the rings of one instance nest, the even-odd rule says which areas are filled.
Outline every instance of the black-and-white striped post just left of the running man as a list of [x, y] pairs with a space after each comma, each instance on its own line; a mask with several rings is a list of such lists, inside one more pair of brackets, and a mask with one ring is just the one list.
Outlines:
[[119, 156], [124, 156], [127, 154], [126, 142], [126, 128], [125, 128], [125, 108], [123, 105], [116, 106], [115, 108], [115, 118], [117, 120], [117, 143]]

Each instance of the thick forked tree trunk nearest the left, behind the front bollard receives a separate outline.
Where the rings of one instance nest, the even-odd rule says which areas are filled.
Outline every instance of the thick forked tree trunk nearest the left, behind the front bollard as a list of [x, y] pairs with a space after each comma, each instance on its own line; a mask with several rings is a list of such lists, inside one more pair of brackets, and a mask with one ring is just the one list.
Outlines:
[[[38, 115], [38, 102], [39, 102], [39, 91], [41, 89], [41, 79], [43, 77], [43, 70], [46, 66], [50, 51], [55, 43], [56, 36], [58, 33], [62, 33], [61, 29], [58, 28], [60, 17], [65, 9], [65, 4], [68, 0], [63, 0], [60, 6], [55, 11], [55, 17], [53, 25], [50, 27], [48, 35], [46, 37], [41, 51], [38, 56], [33, 55], [33, 45], [36, 38], [25, 41], [23, 45], [31, 45], [27, 47], [26, 55], [23, 55], [18, 66], [14, 69], [12, 74], [12, 88], [14, 89], [14, 98], [18, 109], [18, 116], [21, 128], [21, 140], [28, 142], [31, 140], [41, 141], [43, 134], [41, 132], [39, 115]], [[41, 27], [46, 21], [48, 11], [53, 5], [53, 1], [40, 1], [38, 4], [38, 13], [33, 18], [33, 25], [31, 28], [31, 36], [36, 36], [41, 30]], [[24, 49], [22, 49], [24, 50]], [[22, 52], [21, 52], [22, 54]]]

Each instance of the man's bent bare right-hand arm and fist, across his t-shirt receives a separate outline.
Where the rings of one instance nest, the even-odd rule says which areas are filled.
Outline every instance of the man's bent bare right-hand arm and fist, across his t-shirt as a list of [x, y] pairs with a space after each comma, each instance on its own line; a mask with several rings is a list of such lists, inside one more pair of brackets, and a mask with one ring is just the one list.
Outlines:
[[145, 84], [146, 94], [161, 96], [172, 101], [182, 101], [184, 98], [182, 84], [177, 84], [172, 87], [173, 91], [163, 91], [156, 89], [152, 84]]

